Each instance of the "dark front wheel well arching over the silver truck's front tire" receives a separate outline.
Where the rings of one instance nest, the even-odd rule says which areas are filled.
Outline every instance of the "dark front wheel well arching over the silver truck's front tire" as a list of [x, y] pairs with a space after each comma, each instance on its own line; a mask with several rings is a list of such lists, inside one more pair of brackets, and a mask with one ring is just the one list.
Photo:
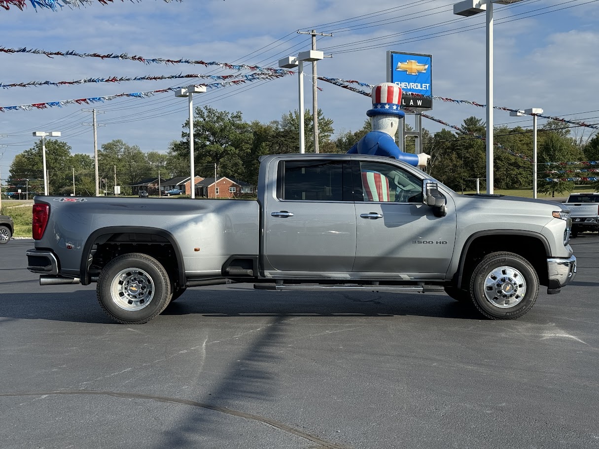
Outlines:
[[457, 284], [462, 288], [468, 286], [474, 268], [487, 254], [497, 251], [508, 251], [524, 257], [537, 272], [539, 282], [543, 286], [549, 284], [547, 274], [547, 247], [544, 242], [532, 235], [491, 234], [482, 235], [468, 242], [462, 253], [460, 272]]

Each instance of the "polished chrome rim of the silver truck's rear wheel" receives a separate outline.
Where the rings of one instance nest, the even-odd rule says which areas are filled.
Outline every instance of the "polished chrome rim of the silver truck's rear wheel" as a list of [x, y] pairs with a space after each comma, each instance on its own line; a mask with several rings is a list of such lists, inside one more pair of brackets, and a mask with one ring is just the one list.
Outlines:
[[150, 304], [155, 286], [147, 272], [139, 268], [127, 268], [114, 276], [110, 292], [114, 304], [126, 311], [136, 311]]

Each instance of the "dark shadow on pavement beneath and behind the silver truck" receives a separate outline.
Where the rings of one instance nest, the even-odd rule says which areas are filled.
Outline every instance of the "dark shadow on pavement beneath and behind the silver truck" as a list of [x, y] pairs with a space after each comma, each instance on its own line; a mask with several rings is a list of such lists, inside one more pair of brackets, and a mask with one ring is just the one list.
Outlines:
[[[243, 316], [393, 317], [485, 319], [470, 304], [446, 295], [392, 293], [280, 293], [255, 290], [189, 289], [154, 320], [185, 315], [202, 318]], [[0, 320], [53, 320], [117, 324], [101, 310], [95, 291], [0, 293]]]

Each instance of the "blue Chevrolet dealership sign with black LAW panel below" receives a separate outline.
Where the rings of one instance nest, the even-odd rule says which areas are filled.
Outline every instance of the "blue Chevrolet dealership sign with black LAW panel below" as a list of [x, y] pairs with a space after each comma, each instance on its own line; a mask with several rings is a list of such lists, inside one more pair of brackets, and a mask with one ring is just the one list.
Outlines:
[[430, 54], [387, 52], [387, 81], [401, 87], [401, 105], [415, 110], [431, 110], [432, 98], [410, 95], [419, 93], [432, 96], [432, 56]]

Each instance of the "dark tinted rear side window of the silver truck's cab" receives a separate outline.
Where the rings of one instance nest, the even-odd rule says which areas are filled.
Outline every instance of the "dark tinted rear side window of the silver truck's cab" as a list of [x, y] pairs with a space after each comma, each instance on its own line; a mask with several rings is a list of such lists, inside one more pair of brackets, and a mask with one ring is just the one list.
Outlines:
[[277, 196], [287, 201], [352, 201], [349, 162], [283, 160], [279, 162]]

